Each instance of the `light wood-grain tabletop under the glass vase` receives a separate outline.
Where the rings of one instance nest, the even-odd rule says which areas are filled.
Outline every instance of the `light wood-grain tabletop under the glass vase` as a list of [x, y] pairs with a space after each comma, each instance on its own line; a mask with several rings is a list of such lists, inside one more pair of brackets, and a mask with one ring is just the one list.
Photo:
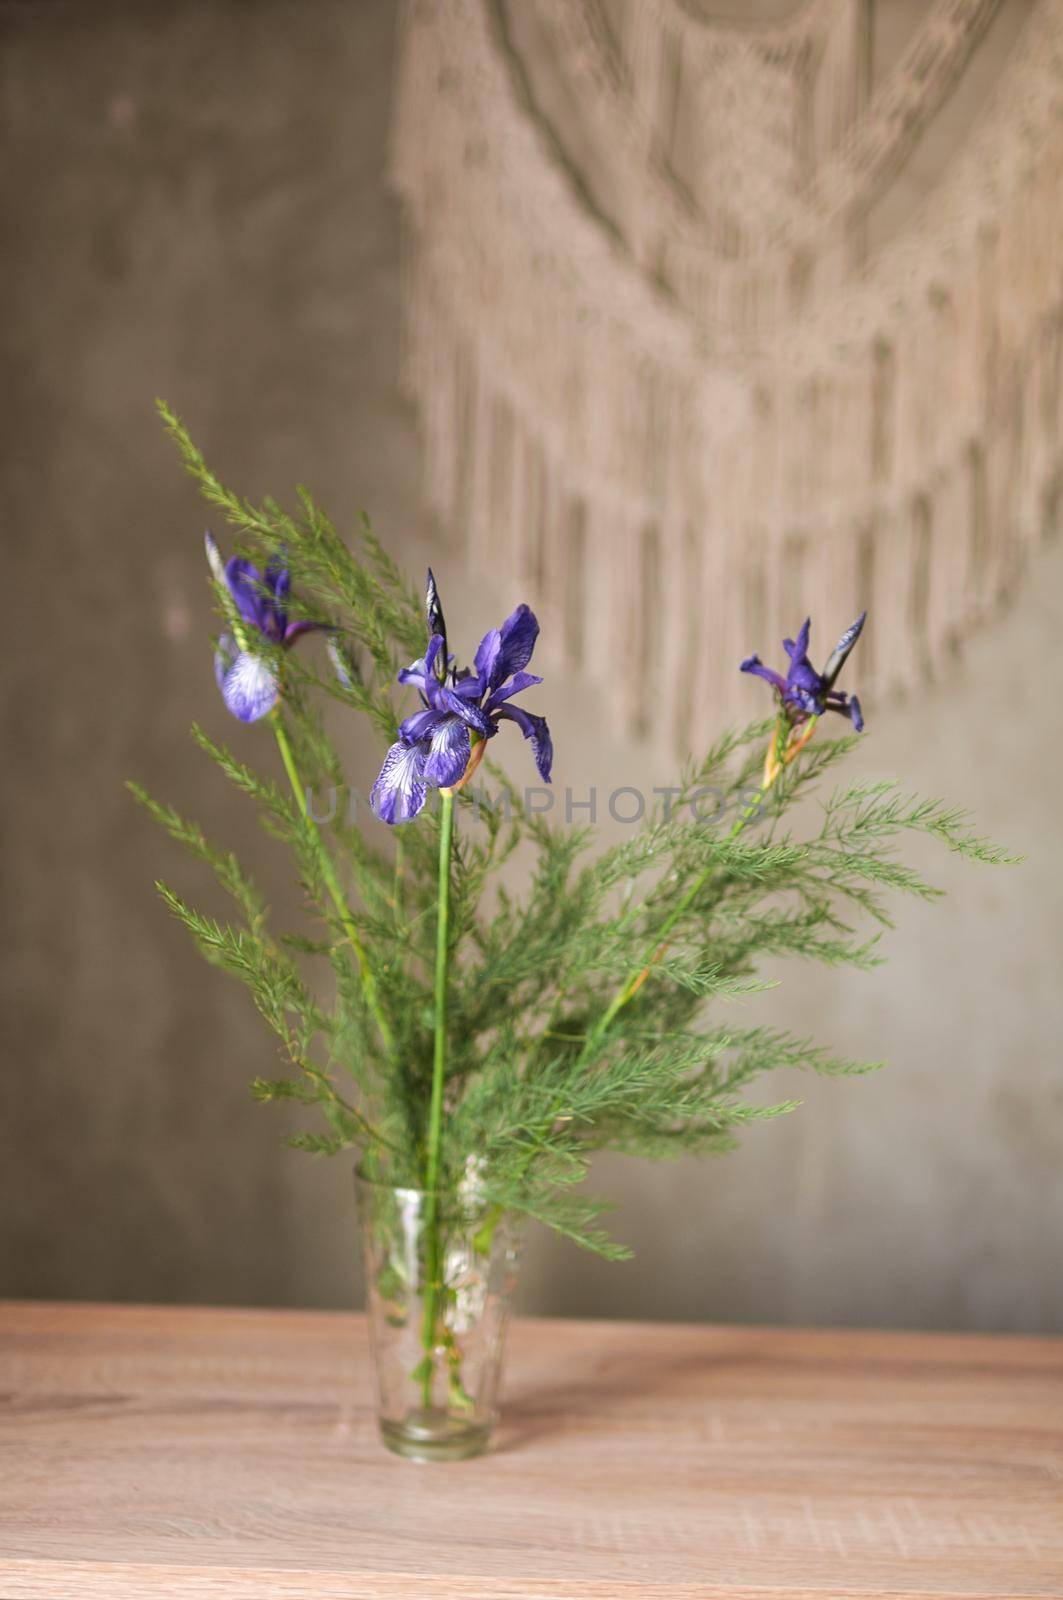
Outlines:
[[1063, 1339], [522, 1322], [480, 1461], [354, 1315], [0, 1306], [0, 1597], [1063, 1595]]

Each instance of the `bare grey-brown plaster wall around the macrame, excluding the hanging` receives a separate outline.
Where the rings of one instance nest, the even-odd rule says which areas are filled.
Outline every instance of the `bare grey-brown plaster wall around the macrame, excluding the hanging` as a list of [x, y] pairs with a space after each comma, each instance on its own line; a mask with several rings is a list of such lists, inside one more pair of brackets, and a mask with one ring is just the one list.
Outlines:
[[[208, 894], [122, 779], [239, 846], [283, 906], [283, 859], [186, 738], [199, 718], [269, 760], [215, 693], [203, 510], [154, 394], [248, 494], [306, 480], [423, 558], [383, 176], [395, 16], [0, 8], [5, 1294], [359, 1294], [349, 1171], [280, 1150], [282, 1120], [250, 1102], [269, 1040], [158, 906], [160, 874]], [[435, 562], [456, 590], [456, 557]], [[749, 1006], [889, 1070], [773, 1083], [802, 1110], [725, 1162], [604, 1162], [637, 1259], [536, 1235], [527, 1309], [1063, 1330], [1061, 584], [1045, 550], [946, 682], [871, 707], [853, 762], [964, 800], [1028, 864], [925, 851], [948, 899], [903, 907], [885, 970], [780, 968]], [[515, 598], [477, 592], [469, 629]], [[578, 686], [551, 706], [562, 786], [668, 781], [592, 710]]]

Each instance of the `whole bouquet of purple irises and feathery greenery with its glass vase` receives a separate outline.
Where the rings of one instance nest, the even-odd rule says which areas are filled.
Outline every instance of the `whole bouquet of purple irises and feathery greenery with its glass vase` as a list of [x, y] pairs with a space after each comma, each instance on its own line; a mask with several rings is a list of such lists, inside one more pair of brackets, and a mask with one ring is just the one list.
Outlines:
[[[424, 595], [411, 590], [368, 522], [349, 544], [303, 490], [298, 512], [250, 504], [160, 411], [237, 544], [224, 560], [207, 534], [218, 685], [245, 726], [235, 749], [192, 736], [290, 848], [317, 933], [275, 931], [237, 858], [131, 786], [213, 869], [234, 920], [158, 890], [277, 1035], [285, 1067], [256, 1078], [255, 1098], [319, 1114], [291, 1144], [355, 1152], [387, 1443], [471, 1454], [495, 1416], [520, 1219], [628, 1254], [583, 1190], [596, 1150], [719, 1155], [794, 1109], [746, 1098], [762, 1074], [872, 1066], [720, 1011], [767, 987], [759, 963], [876, 965], [890, 896], [937, 893], [898, 859], [905, 834], [1009, 858], [962, 811], [882, 782], [836, 787], [810, 830], [788, 830], [792, 803], [861, 734], [860, 701], [837, 682], [863, 614], [823, 670], [808, 621], [784, 642], [784, 674], [743, 661], [772, 714], [719, 738], [631, 837], [592, 850], [589, 829], [527, 810], [490, 758], [515, 731], [551, 781], [549, 726], [530, 709], [549, 701], [528, 670], [530, 608], [469, 653], [448, 637], [432, 573]], [[293, 648], [314, 634], [323, 648]], [[384, 747], [365, 826], [335, 803], [317, 819], [315, 795], [349, 794], [325, 709], [333, 725], [368, 718]], [[263, 739], [283, 782], [250, 765]], [[712, 818], [698, 805], [709, 790]]]

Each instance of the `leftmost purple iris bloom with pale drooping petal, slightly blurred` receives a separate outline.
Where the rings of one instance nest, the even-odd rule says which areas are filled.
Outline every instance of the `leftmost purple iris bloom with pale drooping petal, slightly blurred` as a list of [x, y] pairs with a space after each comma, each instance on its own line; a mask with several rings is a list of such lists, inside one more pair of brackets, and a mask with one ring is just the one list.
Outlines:
[[[258, 634], [267, 645], [290, 650], [296, 638], [322, 629], [325, 622], [288, 621], [291, 574], [275, 557], [259, 573], [258, 566], [234, 555], [223, 565], [213, 536], [205, 534], [207, 560], [219, 584], [232, 598], [245, 635]], [[269, 653], [242, 650], [232, 632], [224, 632], [215, 651], [215, 677], [221, 698], [240, 722], [266, 717], [280, 698], [280, 672]]]

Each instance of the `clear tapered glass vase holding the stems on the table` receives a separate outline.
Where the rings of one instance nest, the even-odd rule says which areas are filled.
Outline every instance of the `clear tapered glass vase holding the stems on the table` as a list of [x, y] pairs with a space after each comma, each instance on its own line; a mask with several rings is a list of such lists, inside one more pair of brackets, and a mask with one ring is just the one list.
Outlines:
[[498, 1419], [519, 1234], [498, 1206], [355, 1173], [379, 1430], [413, 1461], [482, 1454]]

